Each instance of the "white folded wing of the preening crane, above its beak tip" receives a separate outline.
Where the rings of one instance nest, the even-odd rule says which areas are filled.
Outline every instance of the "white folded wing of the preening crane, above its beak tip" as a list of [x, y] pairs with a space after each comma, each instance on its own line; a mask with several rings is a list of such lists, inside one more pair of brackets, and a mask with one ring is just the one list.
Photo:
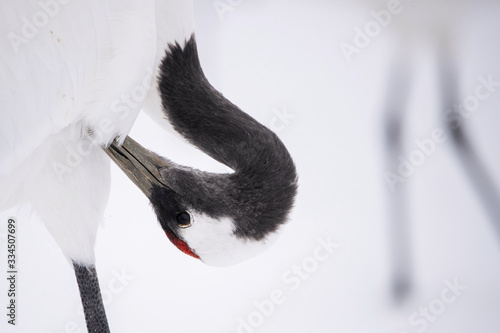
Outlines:
[[0, 178], [49, 136], [130, 130], [152, 79], [154, 1], [0, 2]]

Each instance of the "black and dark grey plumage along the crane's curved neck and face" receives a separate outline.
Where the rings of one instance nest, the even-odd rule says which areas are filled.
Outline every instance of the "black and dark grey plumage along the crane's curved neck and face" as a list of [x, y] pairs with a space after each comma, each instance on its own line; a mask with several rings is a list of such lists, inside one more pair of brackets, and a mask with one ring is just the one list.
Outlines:
[[175, 232], [176, 212], [189, 207], [230, 216], [235, 235], [261, 240], [286, 221], [297, 174], [275, 133], [241, 111], [205, 78], [194, 36], [169, 45], [158, 78], [166, 117], [190, 143], [235, 172], [213, 174], [175, 166], [162, 172], [169, 188], [150, 196], [160, 224]]

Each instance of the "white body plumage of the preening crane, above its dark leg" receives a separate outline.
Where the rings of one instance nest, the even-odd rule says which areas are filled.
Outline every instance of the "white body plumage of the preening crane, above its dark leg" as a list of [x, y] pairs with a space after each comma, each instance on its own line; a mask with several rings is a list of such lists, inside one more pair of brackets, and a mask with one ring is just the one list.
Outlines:
[[[99, 146], [130, 131], [165, 42], [192, 33], [189, 20], [188, 28], [175, 28], [184, 18], [168, 5], [192, 6], [0, 3], [0, 209], [29, 204], [73, 261], [94, 262], [109, 192], [109, 162]], [[168, 32], [157, 36], [157, 27]]]

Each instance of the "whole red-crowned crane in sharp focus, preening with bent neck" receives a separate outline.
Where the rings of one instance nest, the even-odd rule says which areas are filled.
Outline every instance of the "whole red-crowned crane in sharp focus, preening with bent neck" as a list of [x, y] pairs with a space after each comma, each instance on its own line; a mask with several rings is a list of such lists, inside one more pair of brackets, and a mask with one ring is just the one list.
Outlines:
[[[95, 270], [110, 158], [183, 252], [262, 252], [297, 190], [279, 138], [205, 78], [192, 1], [2, 2], [0, 209], [28, 204], [74, 266], [89, 332], [109, 332]], [[177, 165], [129, 138], [141, 108], [234, 172]], [[102, 149], [101, 149], [102, 148]]]

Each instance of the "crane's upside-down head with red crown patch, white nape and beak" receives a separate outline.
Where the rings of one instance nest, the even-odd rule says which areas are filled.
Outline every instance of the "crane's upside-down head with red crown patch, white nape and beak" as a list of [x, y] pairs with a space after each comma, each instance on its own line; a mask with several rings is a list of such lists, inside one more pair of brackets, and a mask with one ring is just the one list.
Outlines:
[[149, 198], [169, 240], [209, 265], [263, 252], [293, 205], [295, 178], [276, 188], [255, 175], [207, 173], [176, 165], [130, 137], [105, 151]]

